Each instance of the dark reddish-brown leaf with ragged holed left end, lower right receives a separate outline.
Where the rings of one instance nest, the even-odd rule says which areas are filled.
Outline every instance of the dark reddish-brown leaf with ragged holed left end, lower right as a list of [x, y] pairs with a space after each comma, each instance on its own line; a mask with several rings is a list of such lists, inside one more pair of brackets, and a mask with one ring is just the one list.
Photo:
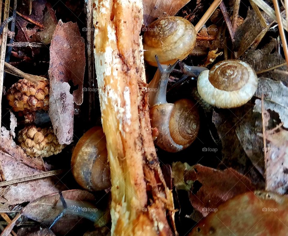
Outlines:
[[[182, 167], [182, 165], [181, 162], [176, 162], [173, 165], [173, 173], [177, 166]], [[181, 173], [181, 176], [174, 175], [174, 180], [175, 178], [178, 179], [178, 182], [182, 178], [184, 180], [182, 180], [183, 184], [191, 183], [192, 189], [189, 189], [190, 202], [203, 216], [217, 211], [218, 205], [235, 195], [254, 190], [251, 181], [232, 168], [221, 171], [199, 164], [193, 167], [188, 165], [184, 173]], [[195, 187], [193, 183], [196, 183]]]

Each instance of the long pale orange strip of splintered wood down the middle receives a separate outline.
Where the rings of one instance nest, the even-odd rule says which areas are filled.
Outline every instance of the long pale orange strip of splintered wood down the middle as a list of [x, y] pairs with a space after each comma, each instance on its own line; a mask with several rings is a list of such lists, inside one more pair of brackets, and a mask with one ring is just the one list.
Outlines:
[[95, 0], [93, 10], [95, 66], [112, 183], [111, 234], [172, 235], [166, 212], [173, 218], [173, 196], [151, 134], [139, 36], [142, 1]]

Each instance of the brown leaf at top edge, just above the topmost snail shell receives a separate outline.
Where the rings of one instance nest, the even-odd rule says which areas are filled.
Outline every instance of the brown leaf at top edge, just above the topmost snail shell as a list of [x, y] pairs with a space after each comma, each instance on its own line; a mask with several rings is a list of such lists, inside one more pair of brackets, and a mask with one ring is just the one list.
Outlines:
[[174, 16], [190, 0], [174, 1], [169, 0], [145, 0], [143, 1], [144, 24], [149, 25], [155, 18]]

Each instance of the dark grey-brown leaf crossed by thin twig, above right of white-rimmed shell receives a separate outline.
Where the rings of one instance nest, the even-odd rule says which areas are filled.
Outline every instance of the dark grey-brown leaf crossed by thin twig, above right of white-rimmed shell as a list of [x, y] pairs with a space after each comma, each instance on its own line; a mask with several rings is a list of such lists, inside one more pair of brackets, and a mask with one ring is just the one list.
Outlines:
[[261, 49], [255, 50], [251, 48], [247, 50], [240, 60], [250, 64], [256, 72], [265, 71], [283, 64], [283, 66], [277, 69], [261, 73], [261, 76], [282, 81], [285, 85], [288, 85], [287, 66], [285, 59], [278, 53], [278, 43], [276, 39], [272, 39], [269, 44]]

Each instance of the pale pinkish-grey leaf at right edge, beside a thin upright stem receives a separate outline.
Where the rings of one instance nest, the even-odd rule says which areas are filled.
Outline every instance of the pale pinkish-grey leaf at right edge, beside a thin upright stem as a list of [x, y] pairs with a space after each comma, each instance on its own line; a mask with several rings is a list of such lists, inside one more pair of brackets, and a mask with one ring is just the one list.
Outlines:
[[266, 184], [267, 191], [285, 194], [288, 190], [288, 131], [280, 127], [265, 131], [267, 140]]

